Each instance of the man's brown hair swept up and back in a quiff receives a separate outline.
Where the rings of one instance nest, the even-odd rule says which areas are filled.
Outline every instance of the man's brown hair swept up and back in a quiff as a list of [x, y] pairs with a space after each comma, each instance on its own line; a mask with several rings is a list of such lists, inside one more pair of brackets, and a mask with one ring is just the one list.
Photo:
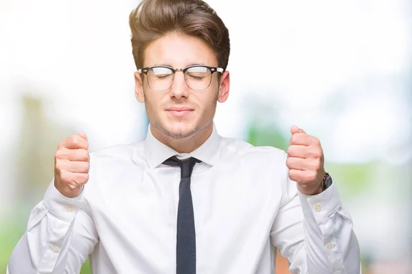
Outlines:
[[205, 41], [216, 53], [218, 66], [227, 68], [229, 31], [216, 12], [201, 0], [143, 0], [130, 12], [133, 57], [137, 69], [144, 63], [146, 47], [170, 32]]

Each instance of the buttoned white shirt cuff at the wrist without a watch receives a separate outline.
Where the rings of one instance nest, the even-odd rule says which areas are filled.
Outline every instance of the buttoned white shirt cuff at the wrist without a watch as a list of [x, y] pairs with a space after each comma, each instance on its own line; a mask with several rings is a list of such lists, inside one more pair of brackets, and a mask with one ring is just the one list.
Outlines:
[[54, 179], [49, 184], [43, 199], [45, 208], [59, 219], [71, 223], [82, 205], [83, 191], [78, 197], [69, 198], [62, 195], [54, 186]]

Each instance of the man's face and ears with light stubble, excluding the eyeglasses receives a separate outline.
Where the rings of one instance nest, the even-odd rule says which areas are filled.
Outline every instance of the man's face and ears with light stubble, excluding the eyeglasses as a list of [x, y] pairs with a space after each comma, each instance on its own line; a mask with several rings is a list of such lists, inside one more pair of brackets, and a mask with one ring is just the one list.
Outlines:
[[[148, 45], [144, 67], [165, 65], [183, 69], [193, 64], [218, 66], [214, 51], [199, 38], [170, 33]], [[155, 91], [148, 85], [148, 76], [135, 73], [136, 97], [145, 102], [150, 123], [172, 138], [190, 138], [211, 126], [217, 101], [224, 102], [229, 95], [229, 74], [211, 75], [205, 90], [192, 90], [185, 83], [183, 72], [176, 71], [172, 86]], [[227, 78], [227, 79], [226, 79]]]

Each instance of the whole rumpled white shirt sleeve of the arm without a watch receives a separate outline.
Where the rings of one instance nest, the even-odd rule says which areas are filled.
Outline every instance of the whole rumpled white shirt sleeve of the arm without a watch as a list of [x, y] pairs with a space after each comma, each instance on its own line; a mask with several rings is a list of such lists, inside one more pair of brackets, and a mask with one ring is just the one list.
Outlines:
[[80, 272], [98, 242], [83, 192], [75, 198], [65, 197], [52, 181], [10, 256], [9, 274]]

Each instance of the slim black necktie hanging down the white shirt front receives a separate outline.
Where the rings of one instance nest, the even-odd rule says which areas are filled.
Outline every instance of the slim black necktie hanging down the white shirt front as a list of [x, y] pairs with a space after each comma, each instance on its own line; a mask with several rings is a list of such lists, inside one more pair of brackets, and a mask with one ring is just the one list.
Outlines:
[[196, 162], [201, 161], [195, 158], [179, 160], [176, 156], [163, 162], [163, 164], [180, 166], [181, 168], [179, 206], [177, 208], [176, 274], [196, 273], [196, 233], [192, 192], [190, 191], [190, 176]]

